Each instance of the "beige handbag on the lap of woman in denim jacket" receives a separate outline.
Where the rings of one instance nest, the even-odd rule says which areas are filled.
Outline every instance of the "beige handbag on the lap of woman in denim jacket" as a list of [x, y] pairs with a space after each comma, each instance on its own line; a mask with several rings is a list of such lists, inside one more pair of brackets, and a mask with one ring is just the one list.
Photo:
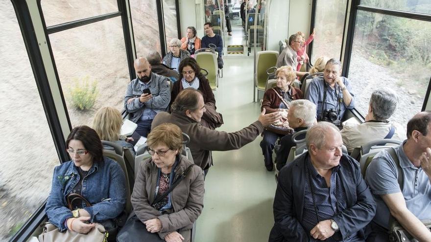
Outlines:
[[40, 242], [106, 242], [108, 232], [100, 223], [95, 224], [96, 226], [88, 234], [80, 234], [71, 230], [61, 233], [54, 224], [47, 222], [44, 232], [38, 239]]

